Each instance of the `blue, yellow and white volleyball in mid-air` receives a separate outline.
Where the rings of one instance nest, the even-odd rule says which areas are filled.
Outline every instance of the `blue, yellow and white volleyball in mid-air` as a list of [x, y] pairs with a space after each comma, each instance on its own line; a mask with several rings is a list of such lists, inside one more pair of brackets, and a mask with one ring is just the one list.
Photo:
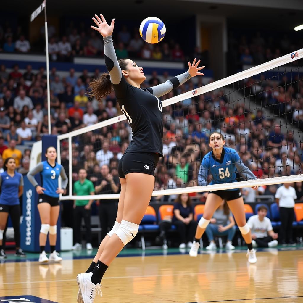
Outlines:
[[165, 25], [159, 18], [148, 17], [141, 22], [140, 36], [145, 42], [158, 43], [164, 38], [165, 32]]

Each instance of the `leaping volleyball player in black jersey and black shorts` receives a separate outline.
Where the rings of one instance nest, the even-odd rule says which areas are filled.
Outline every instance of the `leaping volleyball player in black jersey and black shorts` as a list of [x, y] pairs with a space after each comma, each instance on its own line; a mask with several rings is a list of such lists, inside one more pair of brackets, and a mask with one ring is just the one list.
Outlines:
[[200, 60], [188, 62], [188, 72], [171, 78], [163, 84], [141, 89], [145, 81], [143, 68], [130, 59], [117, 60], [112, 32], [115, 19], [108, 25], [103, 15], [93, 18], [97, 30], [104, 40], [105, 64], [109, 74], [104, 73], [91, 82], [92, 95], [98, 100], [115, 91], [117, 102], [125, 114], [133, 132], [124, 155], [119, 162], [121, 193], [118, 215], [112, 230], [100, 244], [97, 255], [87, 272], [77, 276], [78, 302], [93, 302], [96, 293], [101, 294], [101, 279], [108, 265], [122, 248], [138, 232], [155, 183], [155, 168], [162, 157], [162, 103], [158, 99], [196, 75], [203, 67]]

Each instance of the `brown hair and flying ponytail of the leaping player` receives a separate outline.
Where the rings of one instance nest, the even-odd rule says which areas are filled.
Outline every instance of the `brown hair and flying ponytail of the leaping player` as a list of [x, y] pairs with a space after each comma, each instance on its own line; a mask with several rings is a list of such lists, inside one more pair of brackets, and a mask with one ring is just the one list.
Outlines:
[[[127, 70], [127, 62], [128, 59], [120, 59], [118, 60], [119, 66], [121, 70]], [[98, 101], [101, 98], [109, 95], [112, 92], [112, 82], [108, 73], [103, 73], [99, 78], [93, 79], [89, 83], [90, 93], [88, 94], [91, 97], [95, 97]]]

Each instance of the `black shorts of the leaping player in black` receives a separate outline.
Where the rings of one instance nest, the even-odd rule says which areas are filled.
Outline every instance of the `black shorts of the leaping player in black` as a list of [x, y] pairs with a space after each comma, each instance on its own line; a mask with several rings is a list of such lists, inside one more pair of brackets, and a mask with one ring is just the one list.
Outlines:
[[119, 162], [119, 177], [125, 179], [125, 175], [130, 172], [155, 176], [155, 168], [159, 158], [159, 154], [153, 152], [127, 152]]

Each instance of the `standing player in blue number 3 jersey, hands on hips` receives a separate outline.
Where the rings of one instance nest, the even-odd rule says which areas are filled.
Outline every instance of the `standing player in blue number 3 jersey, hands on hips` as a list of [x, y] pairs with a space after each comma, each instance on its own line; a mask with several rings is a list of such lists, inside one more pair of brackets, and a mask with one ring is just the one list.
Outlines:
[[[28, 180], [35, 186], [38, 198], [38, 211], [41, 219], [41, 229], [39, 235], [40, 256], [39, 262], [48, 262], [45, 253], [45, 244], [49, 232], [49, 244], [51, 246], [50, 261], [61, 261], [55, 250], [57, 240], [57, 221], [60, 211], [59, 194], [63, 194], [68, 183], [68, 178], [61, 164], [55, 160], [57, 152], [54, 147], [48, 147], [45, 152], [47, 161], [38, 163], [31, 171], [28, 172]], [[35, 180], [35, 175], [40, 173], [42, 186]], [[62, 188], [58, 187], [59, 175], [62, 178]]]

